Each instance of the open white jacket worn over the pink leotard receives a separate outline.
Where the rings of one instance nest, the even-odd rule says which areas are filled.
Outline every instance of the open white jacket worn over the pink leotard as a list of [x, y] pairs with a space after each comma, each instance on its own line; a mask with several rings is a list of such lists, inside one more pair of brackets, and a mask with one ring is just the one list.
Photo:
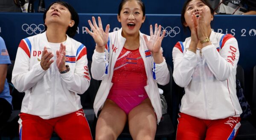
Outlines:
[[[125, 38], [122, 37], [121, 33], [122, 28], [119, 31], [114, 31], [109, 34], [109, 41], [106, 45], [105, 53], [98, 53], [96, 50], [94, 50], [93, 53], [91, 67], [92, 77], [96, 80], [102, 80], [93, 105], [96, 116], [99, 110], [102, 109], [113, 85], [113, 83], [111, 83], [113, 68], [125, 44]], [[148, 39], [150, 39], [149, 36]], [[145, 90], [157, 115], [157, 123], [159, 123], [162, 117], [162, 109], [157, 83], [161, 85], [169, 83], [169, 70], [165, 60], [161, 64], [154, 63], [153, 56], [151, 56], [151, 52], [145, 44], [142, 33], [140, 33], [139, 51], [147, 74]]]

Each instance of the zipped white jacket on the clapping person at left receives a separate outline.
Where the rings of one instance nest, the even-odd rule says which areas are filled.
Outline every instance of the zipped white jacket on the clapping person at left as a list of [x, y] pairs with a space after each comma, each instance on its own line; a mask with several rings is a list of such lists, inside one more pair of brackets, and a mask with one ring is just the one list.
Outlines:
[[[69, 36], [64, 45], [70, 71], [60, 74], [53, 52], [56, 48], [50, 47], [45, 32], [21, 40], [12, 72], [15, 88], [25, 92], [21, 112], [50, 119], [82, 108], [78, 94], [83, 94], [90, 85], [87, 51]], [[54, 54], [54, 62], [48, 70], [43, 70], [40, 64], [44, 46]]]

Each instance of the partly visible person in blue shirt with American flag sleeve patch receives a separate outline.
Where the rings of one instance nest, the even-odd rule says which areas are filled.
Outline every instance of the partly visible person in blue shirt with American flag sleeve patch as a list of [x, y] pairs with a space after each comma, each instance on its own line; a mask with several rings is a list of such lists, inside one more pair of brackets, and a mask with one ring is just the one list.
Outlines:
[[12, 96], [6, 79], [7, 65], [11, 64], [9, 54], [3, 38], [0, 37], [0, 126], [4, 124], [12, 113]]

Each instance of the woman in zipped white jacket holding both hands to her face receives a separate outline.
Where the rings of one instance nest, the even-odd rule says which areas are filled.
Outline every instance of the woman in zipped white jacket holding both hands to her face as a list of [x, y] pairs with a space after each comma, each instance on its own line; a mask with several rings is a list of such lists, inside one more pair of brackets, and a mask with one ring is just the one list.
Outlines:
[[233, 140], [242, 113], [236, 96], [238, 43], [212, 31], [214, 10], [205, 0], [187, 0], [181, 13], [191, 37], [172, 50], [175, 83], [184, 87], [177, 140]]

